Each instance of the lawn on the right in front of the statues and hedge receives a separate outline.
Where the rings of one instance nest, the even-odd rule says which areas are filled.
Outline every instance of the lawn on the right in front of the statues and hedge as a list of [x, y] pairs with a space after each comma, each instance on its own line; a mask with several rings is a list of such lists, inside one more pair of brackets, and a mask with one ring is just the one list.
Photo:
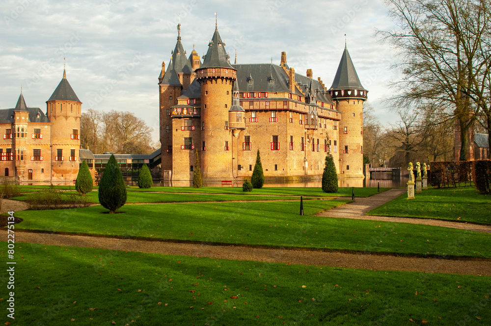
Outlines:
[[371, 210], [367, 215], [420, 217], [491, 224], [491, 196], [474, 187], [428, 189], [407, 200], [407, 194]]

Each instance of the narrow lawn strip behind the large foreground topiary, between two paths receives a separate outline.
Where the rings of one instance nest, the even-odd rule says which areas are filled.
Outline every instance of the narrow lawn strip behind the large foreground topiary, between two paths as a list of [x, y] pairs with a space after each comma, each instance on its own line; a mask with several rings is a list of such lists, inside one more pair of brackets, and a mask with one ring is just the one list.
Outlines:
[[[66, 193], [74, 193], [75, 191], [64, 191], [62, 196], [66, 197]], [[15, 200], [29, 200], [36, 194], [26, 194], [19, 197], [13, 197]], [[188, 201], [235, 201], [235, 200], [291, 200], [291, 196], [248, 196], [241, 194], [193, 194], [193, 193], [167, 193], [167, 192], [127, 192], [127, 203], [178, 203]], [[99, 192], [91, 191], [86, 194], [89, 203], [99, 202]], [[305, 198], [308, 199], [308, 198]], [[300, 200], [300, 198], [299, 198]]]

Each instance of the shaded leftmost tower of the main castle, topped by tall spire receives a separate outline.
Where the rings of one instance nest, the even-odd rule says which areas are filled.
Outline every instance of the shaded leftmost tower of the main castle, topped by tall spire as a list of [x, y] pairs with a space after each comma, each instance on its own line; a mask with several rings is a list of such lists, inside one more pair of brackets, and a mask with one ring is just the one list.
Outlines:
[[172, 117], [170, 116], [172, 109], [170, 108], [177, 104], [177, 98], [188, 89], [194, 80], [193, 67], [200, 64], [199, 56], [195, 51], [189, 58], [186, 57], [181, 44], [181, 24], [177, 26], [177, 43], [171, 54], [167, 71], [165, 71], [165, 63], [162, 62], [162, 71], [159, 76], [160, 142], [164, 179], [168, 179], [164, 171], [172, 170]]

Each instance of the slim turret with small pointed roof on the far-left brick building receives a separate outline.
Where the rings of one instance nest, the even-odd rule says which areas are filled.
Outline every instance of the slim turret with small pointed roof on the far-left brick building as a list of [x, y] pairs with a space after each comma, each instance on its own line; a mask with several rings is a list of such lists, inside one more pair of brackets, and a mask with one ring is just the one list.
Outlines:
[[29, 121], [29, 111], [27, 110], [26, 101], [24, 100], [24, 95], [19, 96], [17, 100], [17, 105], [14, 109], [14, 123], [13, 123], [13, 133], [14, 136], [14, 146], [13, 146], [13, 160], [15, 162], [15, 177], [16, 181], [21, 183], [25, 178], [26, 170], [26, 160], [27, 160], [27, 122]]

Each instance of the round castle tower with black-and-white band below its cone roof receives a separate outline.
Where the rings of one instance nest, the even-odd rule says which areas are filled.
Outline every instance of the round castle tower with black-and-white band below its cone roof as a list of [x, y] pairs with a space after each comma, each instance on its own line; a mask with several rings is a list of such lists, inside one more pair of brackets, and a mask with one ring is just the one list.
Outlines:
[[346, 177], [363, 177], [363, 103], [367, 92], [345, 47], [329, 94], [341, 111], [339, 172]]

